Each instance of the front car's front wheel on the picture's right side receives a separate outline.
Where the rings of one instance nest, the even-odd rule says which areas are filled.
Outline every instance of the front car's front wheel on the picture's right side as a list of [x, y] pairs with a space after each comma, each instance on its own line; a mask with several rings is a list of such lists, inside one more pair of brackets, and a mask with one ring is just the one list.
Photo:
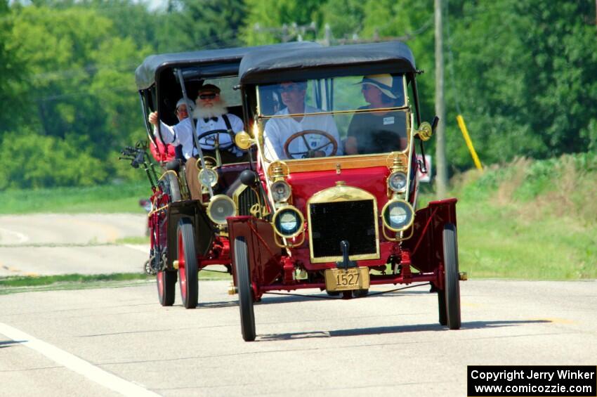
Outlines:
[[[444, 243], [444, 266], [445, 266], [445, 314], [446, 324], [450, 330], [460, 329], [460, 287], [458, 275], [458, 242], [456, 226], [447, 223], [443, 232]], [[441, 304], [441, 292], [438, 299]], [[440, 309], [440, 323], [442, 322], [442, 311]]]

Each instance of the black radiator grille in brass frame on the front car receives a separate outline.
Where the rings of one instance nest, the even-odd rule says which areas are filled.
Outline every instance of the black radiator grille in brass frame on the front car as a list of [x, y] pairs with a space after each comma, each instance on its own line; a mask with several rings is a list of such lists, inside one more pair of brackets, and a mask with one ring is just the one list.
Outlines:
[[348, 254], [376, 254], [376, 221], [373, 200], [310, 204], [313, 257], [342, 256], [340, 242], [350, 243]]

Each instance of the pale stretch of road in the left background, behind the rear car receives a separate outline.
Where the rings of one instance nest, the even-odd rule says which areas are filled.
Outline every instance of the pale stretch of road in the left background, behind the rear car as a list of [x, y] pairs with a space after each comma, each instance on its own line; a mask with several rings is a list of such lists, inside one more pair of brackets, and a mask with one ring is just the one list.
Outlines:
[[68, 273], [138, 273], [149, 247], [117, 245], [145, 235], [139, 214], [0, 216], [0, 277]]

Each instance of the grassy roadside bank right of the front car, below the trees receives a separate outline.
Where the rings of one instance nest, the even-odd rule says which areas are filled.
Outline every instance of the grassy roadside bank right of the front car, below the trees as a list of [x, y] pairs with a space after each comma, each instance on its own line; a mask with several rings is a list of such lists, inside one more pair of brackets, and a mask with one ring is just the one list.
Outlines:
[[452, 186], [469, 278], [597, 278], [597, 155], [519, 159]]

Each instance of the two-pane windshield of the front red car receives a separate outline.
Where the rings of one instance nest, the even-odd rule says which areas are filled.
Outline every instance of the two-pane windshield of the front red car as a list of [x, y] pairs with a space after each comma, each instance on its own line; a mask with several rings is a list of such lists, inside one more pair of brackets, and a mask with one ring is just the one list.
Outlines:
[[329, 77], [258, 86], [265, 160], [375, 155], [407, 149], [402, 74]]

